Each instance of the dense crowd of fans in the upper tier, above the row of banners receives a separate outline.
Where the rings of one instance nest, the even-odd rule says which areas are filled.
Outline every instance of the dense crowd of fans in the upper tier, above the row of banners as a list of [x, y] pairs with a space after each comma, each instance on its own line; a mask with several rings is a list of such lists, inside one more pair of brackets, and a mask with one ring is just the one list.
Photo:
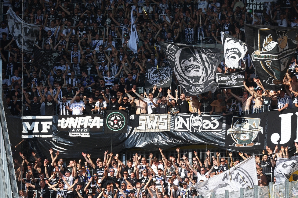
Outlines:
[[[296, 0], [264, 2], [263, 13], [252, 14], [246, 9], [247, 3], [239, 0], [29, 0], [28, 5], [10, 0], [3, 4], [3, 12], [10, 5], [24, 21], [40, 24], [35, 46], [59, 55], [51, 74], [45, 76], [34, 62], [36, 57], [24, 53], [9, 39], [5, 17], [0, 28], [2, 96], [12, 115], [104, 114], [107, 109], [127, 110], [129, 114], [231, 115], [253, 113], [262, 105], [278, 111], [296, 108], [295, 57], [284, 79], [285, 89], [278, 92], [263, 89], [247, 54], [239, 62], [241, 69], [230, 69], [224, 61], [217, 68], [220, 73], [245, 70], [244, 90], [218, 90], [190, 98], [181, 93], [180, 99], [167, 89], [158, 89], [154, 95], [156, 87], [144, 93], [147, 64], [159, 68], [169, 64], [159, 41], [214, 44], [221, 42], [220, 31], [245, 41], [244, 23], [297, 26], [296, 4]], [[140, 40], [136, 57], [128, 48], [131, 10]], [[178, 85], [175, 74], [172, 85]], [[80, 108], [74, 110], [77, 105]]]

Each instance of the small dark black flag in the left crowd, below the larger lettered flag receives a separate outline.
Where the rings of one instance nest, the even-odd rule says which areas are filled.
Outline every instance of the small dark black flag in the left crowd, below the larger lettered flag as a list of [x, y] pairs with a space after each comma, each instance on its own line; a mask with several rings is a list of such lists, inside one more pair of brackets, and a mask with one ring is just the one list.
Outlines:
[[58, 56], [58, 53], [55, 51], [50, 51], [46, 49], [33, 48], [34, 62], [39, 69], [45, 73], [45, 76], [48, 76], [51, 70], [54, 67], [55, 59]]

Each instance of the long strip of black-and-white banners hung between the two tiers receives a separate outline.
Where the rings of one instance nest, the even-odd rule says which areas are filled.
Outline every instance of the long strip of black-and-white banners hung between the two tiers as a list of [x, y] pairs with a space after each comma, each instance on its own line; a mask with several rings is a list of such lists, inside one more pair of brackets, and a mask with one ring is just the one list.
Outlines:
[[[266, 146], [295, 148], [298, 109], [250, 115], [130, 115], [110, 111], [103, 115], [24, 116], [7, 114], [11, 143], [28, 141], [32, 151], [49, 148], [70, 157], [82, 152], [104, 153], [113, 148], [167, 149], [181, 144], [209, 144], [231, 151], [259, 153]], [[21, 136], [20, 136], [21, 131]]]

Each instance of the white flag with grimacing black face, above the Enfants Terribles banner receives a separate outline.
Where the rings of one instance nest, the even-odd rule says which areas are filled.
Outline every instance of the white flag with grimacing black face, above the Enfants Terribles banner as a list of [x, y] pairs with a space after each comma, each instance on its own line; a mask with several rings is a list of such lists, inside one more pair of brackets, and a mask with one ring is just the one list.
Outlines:
[[241, 64], [239, 64], [239, 61], [245, 56], [247, 52], [246, 43], [224, 32], [220, 33], [221, 41], [224, 48], [225, 64], [228, 68], [241, 68]]

